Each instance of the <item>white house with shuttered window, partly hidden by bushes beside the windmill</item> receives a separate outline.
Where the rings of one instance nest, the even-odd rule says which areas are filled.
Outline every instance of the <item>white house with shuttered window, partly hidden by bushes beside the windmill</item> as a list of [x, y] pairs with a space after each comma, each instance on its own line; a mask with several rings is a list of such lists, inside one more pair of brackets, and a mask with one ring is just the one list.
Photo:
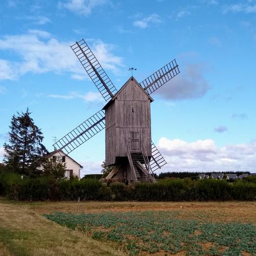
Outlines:
[[52, 158], [54, 162], [66, 163], [66, 173], [65, 177], [78, 177], [80, 179], [80, 170], [83, 168], [81, 164], [76, 162], [73, 158], [66, 155], [61, 150], [55, 150], [47, 156], [48, 158]]

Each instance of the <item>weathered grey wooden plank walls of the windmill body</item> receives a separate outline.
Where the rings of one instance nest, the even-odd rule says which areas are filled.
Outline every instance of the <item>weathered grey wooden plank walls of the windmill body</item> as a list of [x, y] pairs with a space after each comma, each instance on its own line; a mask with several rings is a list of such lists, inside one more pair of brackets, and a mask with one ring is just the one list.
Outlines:
[[107, 165], [115, 164], [116, 157], [127, 156], [132, 132], [138, 132], [139, 145], [142, 142], [147, 156], [151, 156], [150, 103], [139, 84], [130, 79], [105, 109]]

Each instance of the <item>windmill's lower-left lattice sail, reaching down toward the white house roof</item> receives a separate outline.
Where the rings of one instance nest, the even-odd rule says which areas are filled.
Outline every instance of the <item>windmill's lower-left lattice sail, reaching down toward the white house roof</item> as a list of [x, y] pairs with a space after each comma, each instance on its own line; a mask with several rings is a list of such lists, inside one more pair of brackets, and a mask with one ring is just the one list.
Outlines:
[[54, 143], [53, 146], [69, 154], [104, 128], [105, 113], [103, 110], [100, 110]]

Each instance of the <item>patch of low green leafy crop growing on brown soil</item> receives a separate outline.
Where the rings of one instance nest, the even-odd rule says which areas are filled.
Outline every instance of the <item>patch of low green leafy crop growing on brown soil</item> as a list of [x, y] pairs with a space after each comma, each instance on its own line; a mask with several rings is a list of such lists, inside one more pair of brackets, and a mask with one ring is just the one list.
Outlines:
[[130, 254], [175, 254], [181, 251], [190, 255], [256, 253], [256, 226], [249, 223], [181, 220], [178, 211], [80, 215], [56, 212], [45, 217], [62, 226], [86, 232], [94, 239], [116, 242]]

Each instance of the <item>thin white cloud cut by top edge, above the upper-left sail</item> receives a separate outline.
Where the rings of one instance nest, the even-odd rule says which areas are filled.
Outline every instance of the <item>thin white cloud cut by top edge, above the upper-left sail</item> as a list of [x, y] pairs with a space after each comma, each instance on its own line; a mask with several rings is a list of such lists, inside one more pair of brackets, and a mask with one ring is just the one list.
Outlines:
[[71, 12], [80, 15], [89, 15], [92, 10], [100, 5], [107, 3], [107, 0], [68, 0], [66, 2], [59, 2], [59, 8], [67, 8]]

